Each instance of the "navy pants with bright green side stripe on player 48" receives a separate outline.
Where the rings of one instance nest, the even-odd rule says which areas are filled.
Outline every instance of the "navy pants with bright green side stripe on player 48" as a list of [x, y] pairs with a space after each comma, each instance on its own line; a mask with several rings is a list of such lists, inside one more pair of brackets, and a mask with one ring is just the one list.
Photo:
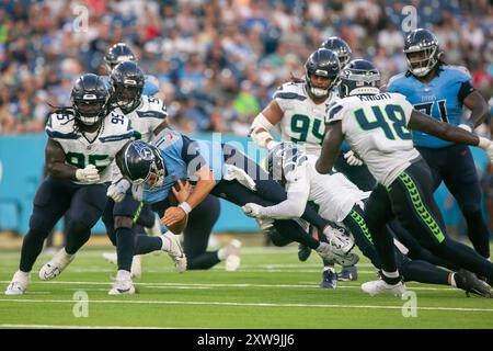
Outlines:
[[438, 206], [433, 197], [429, 168], [419, 158], [387, 189], [379, 184], [371, 192], [365, 219], [387, 272], [397, 270], [392, 252], [393, 238], [382, 230], [394, 216], [412, 236], [433, 254], [473, 273], [493, 278], [493, 263], [474, 250], [450, 239]]

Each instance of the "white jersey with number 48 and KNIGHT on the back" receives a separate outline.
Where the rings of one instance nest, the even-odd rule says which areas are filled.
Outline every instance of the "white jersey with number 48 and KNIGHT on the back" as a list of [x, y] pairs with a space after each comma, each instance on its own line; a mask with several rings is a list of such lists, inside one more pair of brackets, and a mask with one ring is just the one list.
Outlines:
[[330, 107], [325, 122], [342, 122], [351, 149], [379, 183], [389, 186], [420, 156], [408, 129], [412, 111], [399, 93], [348, 97]]

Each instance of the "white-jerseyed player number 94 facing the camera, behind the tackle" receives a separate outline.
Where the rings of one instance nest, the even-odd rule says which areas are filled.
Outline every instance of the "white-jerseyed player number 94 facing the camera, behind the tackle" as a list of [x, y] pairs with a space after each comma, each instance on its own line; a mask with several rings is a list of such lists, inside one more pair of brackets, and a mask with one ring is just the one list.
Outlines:
[[[253, 121], [250, 136], [259, 147], [272, 149], [276, 145], [271, 131], [278, 125], [282, 141], [295, 141], [302, 145], [308, 154], [320, 154], [325, 133], [325, 109], [337, 99], [334, 92], [340, 71], [337, 55], [330, 49], [319, 48], [307, 59], [305, 70], [305, 80], [280, 86], [271, 103]], [[306, 261], [310, 252], [309, 247], [299, 245], [299, 260]]]

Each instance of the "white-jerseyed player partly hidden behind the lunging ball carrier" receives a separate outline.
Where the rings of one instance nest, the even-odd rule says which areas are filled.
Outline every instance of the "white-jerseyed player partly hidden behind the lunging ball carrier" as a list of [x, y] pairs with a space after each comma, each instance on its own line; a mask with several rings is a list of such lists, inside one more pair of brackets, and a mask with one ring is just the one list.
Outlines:
[[[115, 113], [123, 114], [130, 120], [136, 138], [150, 140], [152, 136], [158, 135], [168, 126], [165, 122], [167, 107], [163, 102], [142, 95], [145, 77], [137, 64], [126, 60], [116, 65], [111, 72], [110, 81], [112, 106], [115, 107]], [[107, 191], [110, 199], [103, 213], [103, 222], [112, 244], [116, 246], [118, 271], [131, 272], [133, 276], [139, 278], [140, 256], [134, 257], [135, 236], [144, 234], [142, 226], [154, 227], [154, 222], [159, 228], [159, 220], [149, 206], [134, 200], [131, 191], [127, 191], [127, 193], [122, 191], [122, 189], [128, 190], [129, 188], [129, 182], [123, 178], [115, 179], [110, 185]], [[116, 203], [114, 199], [117, 201]], [[176, 269], [183, 272], [186, 270], [186, 258], [182, 254], [177, 237], [170, 231], [164, 234], [164, 237], [167, 247], [163, 250], [168, 251], [174, 260]], [[176, 250], [172, 248], [176, 248]], [[112, 256], [111, 253], [104, 254], [110, 261], [114, 259]], [[121, 273], [121, 275], [128, 274]], [[116, 294], [118, 291], [127, 293], [131, 290], [115, 288], [114, 293]]]

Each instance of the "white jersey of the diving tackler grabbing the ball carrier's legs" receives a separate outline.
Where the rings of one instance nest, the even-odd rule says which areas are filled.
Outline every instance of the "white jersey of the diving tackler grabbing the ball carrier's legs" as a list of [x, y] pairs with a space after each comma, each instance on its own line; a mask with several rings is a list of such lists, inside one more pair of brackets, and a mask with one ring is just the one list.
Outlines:
[[367, 199], [364, 192], [344, 174], [320, 174], [314, 165], [318, 157], [296, 152], [290, 161], [284, 162], [287, 200], [264, 208], [264, 214], [273, 218], [290, 218], [294, 207], [302, 213], [308, 201], [319, 206], [322, 218], [341, 223], [355, 204]]

